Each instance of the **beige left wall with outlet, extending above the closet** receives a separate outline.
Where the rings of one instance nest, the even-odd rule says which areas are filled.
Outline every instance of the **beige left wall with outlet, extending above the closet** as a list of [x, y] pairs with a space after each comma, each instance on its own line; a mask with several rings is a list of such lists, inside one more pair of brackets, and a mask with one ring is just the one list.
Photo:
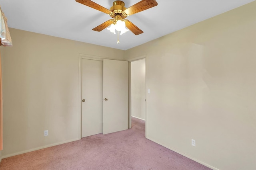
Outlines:
[[10, 33], [13, 47], [3, 51], [2, 156], [79, 139], [79, 54], [122, 60], [124, 51], [12, 28]]

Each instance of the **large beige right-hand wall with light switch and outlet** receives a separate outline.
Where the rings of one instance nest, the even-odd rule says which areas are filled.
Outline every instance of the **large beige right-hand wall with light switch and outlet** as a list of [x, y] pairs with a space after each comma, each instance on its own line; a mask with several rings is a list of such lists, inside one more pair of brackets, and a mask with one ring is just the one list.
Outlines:
[[145, 54], [148, 139], [212, 168], [256, 169], [256, 2], [129, 49], [126, 59]]

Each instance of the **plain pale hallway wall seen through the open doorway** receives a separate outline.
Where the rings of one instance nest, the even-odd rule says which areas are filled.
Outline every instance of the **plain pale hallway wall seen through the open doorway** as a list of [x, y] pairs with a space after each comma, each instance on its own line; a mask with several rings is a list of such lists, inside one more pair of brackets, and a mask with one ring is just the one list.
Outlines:
[[131, 62], [132, 116], [145, 120], [145, 59]]

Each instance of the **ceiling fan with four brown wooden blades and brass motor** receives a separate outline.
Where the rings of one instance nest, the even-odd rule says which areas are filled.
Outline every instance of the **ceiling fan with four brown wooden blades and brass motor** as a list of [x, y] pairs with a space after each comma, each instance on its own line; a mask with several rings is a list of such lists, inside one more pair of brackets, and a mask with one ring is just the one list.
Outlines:
[[[95, 2], [93, 2], [91, 0], [76, 0], [76, 2], [79, 2], [81, 4], [84, 4], [86, 6], [94, 8], [96, 10], [99, 10], [101, 12], [104, 12], [113, 18], [111, 20], [108, 20], [108, 21], [98, 25], [97, 27], [93, 28], [92, 30], [102, 31], [103, 29], [105, 29], [106, 27], [108, 27], [111, 24], [116, 25], [116, 23], [118, 23], [120, 21], [124, 21], [122, 23], [125, 23], [125, 26], [128, 29], [130, 29], [130, 31], [132, 31], [132, 33], [134, 33], [135, 35], [139, 35], [139, 34], [143, 33], [143, 31], [141, 29], [139, 29], [136, 25], [134, 25], [131, 21], [129, 21], [125, 18], [130, 15], [133, 15], [138, 12], [141, 12], [141, 11], [147, 10], [149, 8], [152, 8], [154, 6], [157, 6], [156, 0], [141, 0], [140, 2], [134, 4], [133, 6], [131, 6], [129, 8], [125, 8], [123, 1], [116, 0], [113, 2], [113, 6], [110, 8], [110, 10], [108, 10], [108, 9], [100, 6], [99, 4], [96, 4]], [[118, 29], [116, 29], [116, 30], [118, 30]], [[111, 32], [113, 32], [113, 31], [111, 31]], [[113, 33], [115, 33], [115, 32], [113, 32]], [[121, 32], [121, 34], [122, 34], [122, 32]]]

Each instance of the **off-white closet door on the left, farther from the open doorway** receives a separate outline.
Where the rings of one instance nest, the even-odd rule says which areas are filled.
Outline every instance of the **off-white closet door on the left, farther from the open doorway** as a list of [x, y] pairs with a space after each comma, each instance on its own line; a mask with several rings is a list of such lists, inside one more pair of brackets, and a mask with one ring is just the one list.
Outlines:
[[102, 133], [103, 62], [82, 59], [82, 137]]

